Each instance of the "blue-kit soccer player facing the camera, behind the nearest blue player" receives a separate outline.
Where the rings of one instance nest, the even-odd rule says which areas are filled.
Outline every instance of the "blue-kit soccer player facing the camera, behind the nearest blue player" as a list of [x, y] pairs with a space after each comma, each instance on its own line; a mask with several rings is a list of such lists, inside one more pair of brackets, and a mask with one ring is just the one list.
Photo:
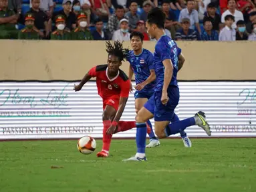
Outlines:
[[[154, 81], [156, 75], [154, 73], [153, 54], [142, 47], [143, 39], [144, 35], [139, 31], [133, 31], [130, 34], [130, 43], [133, 50], [130, 51], [129, 57], [127, 58], [127, 61], [130, 63], [129, 78], [132, 79], [132, 75], [134, 74], [136, 81], [136, 92], [134, 93], [136, 113], [140, 111], [146, 101], [153, 95], [154, 87], [156, 86], [156, 82]], [[171, 120], [171, 122], [174, 121], [179, 121], [178, 116], [175, 115]], [[146, 147], [151, 148], [160, 145], [160, 141], [154, 135], [150, 120], [146, 121], [146, 123], [151, 129], [150, 134], [148, 134], [150, 143]], [[186, 133], [182, 131], [180, 135], [184, 146], [191, 147], [192, 143], [186, 136]]]

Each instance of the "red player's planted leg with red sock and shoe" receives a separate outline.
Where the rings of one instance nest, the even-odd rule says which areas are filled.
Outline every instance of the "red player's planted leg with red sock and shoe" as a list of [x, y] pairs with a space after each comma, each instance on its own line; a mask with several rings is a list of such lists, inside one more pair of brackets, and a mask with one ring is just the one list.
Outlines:
[[103, 121], [102, 151], [97, 153], [97, 157], [108, 157], [112, 135], [107, 135], [106, 131], [110, 127], [112, 119], [115, 117], [115, 115], [116, 115], [116, 109], [114, 109], [114, 107], [110, 105], [106, 105], [106, 108], [104, 109], [102, 114], [102, 121]]

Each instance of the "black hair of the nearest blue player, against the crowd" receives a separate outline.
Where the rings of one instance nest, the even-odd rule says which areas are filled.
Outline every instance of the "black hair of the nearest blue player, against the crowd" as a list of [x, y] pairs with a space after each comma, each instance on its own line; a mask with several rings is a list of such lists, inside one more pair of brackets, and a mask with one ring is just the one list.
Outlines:
[[165, 17], [166, 15], [162, 9], [155, 7], [149, 11], [147, 22], [150, 25], [155, 24], [158, 28], [164, 29]]

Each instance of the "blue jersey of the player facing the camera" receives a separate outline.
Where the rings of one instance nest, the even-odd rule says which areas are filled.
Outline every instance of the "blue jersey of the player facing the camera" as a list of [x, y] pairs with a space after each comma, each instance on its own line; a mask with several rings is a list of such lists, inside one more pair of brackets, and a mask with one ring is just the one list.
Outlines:
[[[130, 56], [127, 58], [135, 75], [136, 84], [142, 83], [150, 76], [150, 70], [154, 69], [153, 54], [147, 49], [142, 49], [140, 55], [134, 55], [134, 51], [130, 51]], [[154, 92], [156, 82], [152, 81], [144, 87], [140, 92]]]

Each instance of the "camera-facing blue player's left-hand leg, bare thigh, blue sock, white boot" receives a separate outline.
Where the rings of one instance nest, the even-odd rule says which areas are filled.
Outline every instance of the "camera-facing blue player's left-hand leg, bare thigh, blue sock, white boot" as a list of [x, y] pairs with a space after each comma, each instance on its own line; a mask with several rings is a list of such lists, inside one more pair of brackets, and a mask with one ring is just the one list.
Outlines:
[[[137, 99], [135, 99], [136, 113], [138, 113], [138, 111], [140, 111], [140, 109], [144, 106], [146, 101], [148, 101], [147, 98], [137, 98]], [[150, 133], [148, 133], [148, 135], [150, 137], [150, 143], [148, 143], [148, 145], [146, 145], [146, 147], [147, 148], [151, 148], [151, 147], [159, 146], [160, 145], [160, 141], [156, 138], [156, 135], [154, 135], [154, 131], [152, 129], [152, 125], [150, 123], [150, 120], [147, 121], [147, 127], [148, 127], [148, 129], [150, 129]]]

